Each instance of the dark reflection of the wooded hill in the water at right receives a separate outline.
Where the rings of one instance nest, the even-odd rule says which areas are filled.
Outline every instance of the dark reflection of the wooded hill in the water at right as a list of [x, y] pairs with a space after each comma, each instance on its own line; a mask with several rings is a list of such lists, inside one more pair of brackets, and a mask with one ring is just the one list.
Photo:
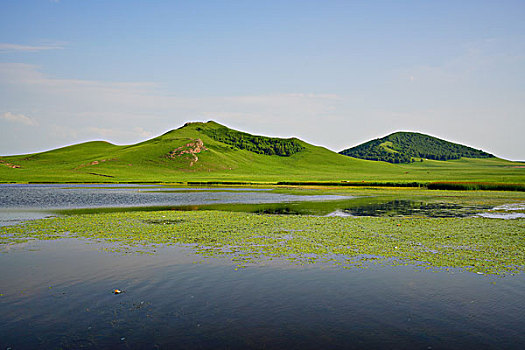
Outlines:
[[393, 200], [365, 206], [347, 208], [343, 212], [352, 216], [426, 216], [467, 217], [479, 213], [485, 206], [461, 206], [455, 203], [425, 203], [411, 200]]

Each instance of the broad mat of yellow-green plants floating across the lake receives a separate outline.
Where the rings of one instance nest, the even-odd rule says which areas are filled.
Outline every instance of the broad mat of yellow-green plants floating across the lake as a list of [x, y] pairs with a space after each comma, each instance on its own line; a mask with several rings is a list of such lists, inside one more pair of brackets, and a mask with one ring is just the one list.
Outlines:
[[73, 215], [0, 228], [0, 248], [31, 239], [113, 242], [121, 252], [189, 245], [238, 267], [266, 259], [361, 267], [367, 261], [484, 274], [525, 269], [525, 220], [340, 218], [222, 211]]

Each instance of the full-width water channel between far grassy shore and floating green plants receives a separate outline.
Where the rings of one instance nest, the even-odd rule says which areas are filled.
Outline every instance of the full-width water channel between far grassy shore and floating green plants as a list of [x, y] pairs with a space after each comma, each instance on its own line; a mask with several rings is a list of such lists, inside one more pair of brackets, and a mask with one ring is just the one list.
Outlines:
[[525, 217], [525, 204], [458, 204], [428, 197], [293, 195], [261, 188], [158, 185], [0, 184], [0, 226], [56, 214], [225, 210], [259, 214], [376, 217]]

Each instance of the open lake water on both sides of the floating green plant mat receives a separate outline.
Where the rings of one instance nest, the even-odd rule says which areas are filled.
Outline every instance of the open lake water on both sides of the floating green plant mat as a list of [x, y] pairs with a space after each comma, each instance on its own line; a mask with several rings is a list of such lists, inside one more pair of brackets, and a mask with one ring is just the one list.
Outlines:
[[[330, 201], [324, 211], [323, 200]], [[351, 205], [353, 200], [362, 203]], [[388, 215], [408, 215], [409, 208], [435, 213], [428, 203], [392, 202], [246, 188], [0, 186], [4, 225], [93, 207], [233, 205], [250, 212], [281, 208], [274, 212], [357, 216], [372, 215], [377, 206], [375, 212]], [[483, 208], [437, 210], [447, 217]], [[345, 220], [356, 220], [352, 216]], [[0, 348], [525, 347], [523, 274], [373, 262], [344, 269], [283, 259], [237, 269], [227, 257], [203, 258], [190, 246], [158, 245], [153, 254], [115, 252], [114, 246], [77, 238], [0, 245]]]

